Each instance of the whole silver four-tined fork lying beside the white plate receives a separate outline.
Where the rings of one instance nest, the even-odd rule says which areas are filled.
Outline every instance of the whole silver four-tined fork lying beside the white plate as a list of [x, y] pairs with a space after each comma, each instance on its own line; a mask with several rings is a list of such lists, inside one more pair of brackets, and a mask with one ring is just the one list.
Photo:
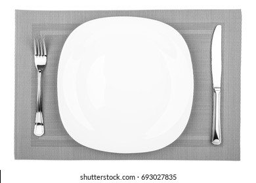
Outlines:
[[42, 136], [45, 133], [43, 124], [43, 111], [41, 103], [41, 74], [47, 63], [47, 50], [43, 37], [33, 39], [33, 48], [35, 55], [35, 67], [37, 68], [37, 111], [35, 115], [35, 128], [33, 133], [36, 136]]

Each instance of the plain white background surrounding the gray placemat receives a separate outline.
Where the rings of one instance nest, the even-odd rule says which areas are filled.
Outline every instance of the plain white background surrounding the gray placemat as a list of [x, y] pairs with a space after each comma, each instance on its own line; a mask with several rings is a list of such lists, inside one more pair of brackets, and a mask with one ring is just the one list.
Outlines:
[[[172, 182], [255, 181], [255, 5], [253, 1], [1, 1], [0, 169], [3, 182], [85, 182], [79, 176], [177, 174]], [[242, 9], [241, 161], [14, 160], [14, 10]], [[105, 180], [106, 181], [106, 180]], [[89, 181], [86, 181], [89, 182]], [[91, 181], [97, 182], [97, 181]], [[104, 181], [101, 181], [104, 182]], [[107, 181], [112, 182], [112, 181]], [[122, 181], [119, 181], [122, 182]], [[124, 182], [143, 182], [142, 180]], [[148, 182], [144, 180], [144, 182]], [[154, 181], [152, 181], [154, 182]], [[161, 182], [158, 180], [157, 182]], [[167, 180], [163, 182], [169, 182]]]

